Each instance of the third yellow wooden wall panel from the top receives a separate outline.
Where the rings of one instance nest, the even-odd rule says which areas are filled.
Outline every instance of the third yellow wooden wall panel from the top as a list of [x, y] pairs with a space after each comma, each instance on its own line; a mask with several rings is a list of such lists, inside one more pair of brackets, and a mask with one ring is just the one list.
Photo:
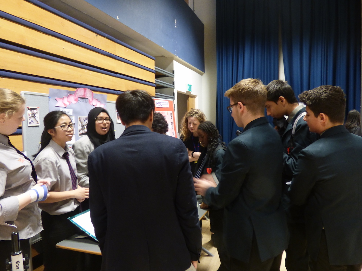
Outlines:
[[81, 83], [91, 86], [105, 87], [120, 91], [142, 89], [155, 96], [155, 87], [133, 81], [109, 76], [106, 74], [84, 70], [74, 66], [25, 55], [0, 48], [0, 68], [14, 72], [34, 74], [37, 76], [55, 78], [63, 81]]

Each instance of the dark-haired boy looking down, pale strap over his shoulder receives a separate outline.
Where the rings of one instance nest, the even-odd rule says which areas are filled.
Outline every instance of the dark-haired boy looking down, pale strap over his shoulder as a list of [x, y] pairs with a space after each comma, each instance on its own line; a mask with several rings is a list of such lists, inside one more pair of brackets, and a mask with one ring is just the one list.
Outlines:
[[[286, 121], [281, 133], [283, 143], [283, 205], [287, 212], [290, 239], [286, 249], [285, 267], [288, 271], [308, 271], [309, 256], [304, 224], [304, 208], [290, 205], [288, 188], [295, 172], [298, 154], [316, 141], [317, 134], [310, 132], [303, 120], [306, 108], [299, 105], [292, 87], [287, 81], [274, 80], [267, 86], [266, 113]], [[284, 116], [288, 116], [287, 120]], [[294, 134], [293, 133], [294, 129]]]

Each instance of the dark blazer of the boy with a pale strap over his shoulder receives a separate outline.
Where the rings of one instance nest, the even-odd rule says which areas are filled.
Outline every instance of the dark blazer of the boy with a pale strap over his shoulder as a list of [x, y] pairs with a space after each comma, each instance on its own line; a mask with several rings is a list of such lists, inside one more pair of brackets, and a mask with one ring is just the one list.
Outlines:
[[[304, 222], [304, 207], [295, 206], [290, 204], [288, 189], [292, 180], [296, 164], [298, 162], [298, 155], [301, 150], [311, 145], [319, 137], [318, 134], [312, 133], [309, 130], [307, 122], [300, 118], [295, 126], [295, 134], [293, 137], [294, 148], [289, 149], [290, 137], [292, 136], [292, 129], [296, 119], [300, 114], [306, 112], [306, 108], [300, 109], [288, 123], [285, 132], [282, 135], [283, 143], [283, 205], [287, 213], [287, 219], [290, 223]], [[289, 154], [288, 154], [289, 149]]]

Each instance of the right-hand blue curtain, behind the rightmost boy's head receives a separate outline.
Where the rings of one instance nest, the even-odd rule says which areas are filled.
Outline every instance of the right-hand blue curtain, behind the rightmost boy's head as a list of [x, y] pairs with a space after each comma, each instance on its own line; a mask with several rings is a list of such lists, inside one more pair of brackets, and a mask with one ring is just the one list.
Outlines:
[[281, 0], [285, 79], [298, 95], [340, 86], [346, 111], [360, 109], [361, 1]]

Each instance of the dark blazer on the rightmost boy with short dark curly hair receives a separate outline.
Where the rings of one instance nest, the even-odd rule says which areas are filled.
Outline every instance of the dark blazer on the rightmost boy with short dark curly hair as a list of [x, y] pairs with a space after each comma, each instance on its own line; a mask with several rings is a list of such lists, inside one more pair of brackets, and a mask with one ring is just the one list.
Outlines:
[[289, 194], [306, 203], [308, 251], [317, 259], [322, 230], [329, 263], [362, 263], [362, 138], [334, 126], [299, 154]]

